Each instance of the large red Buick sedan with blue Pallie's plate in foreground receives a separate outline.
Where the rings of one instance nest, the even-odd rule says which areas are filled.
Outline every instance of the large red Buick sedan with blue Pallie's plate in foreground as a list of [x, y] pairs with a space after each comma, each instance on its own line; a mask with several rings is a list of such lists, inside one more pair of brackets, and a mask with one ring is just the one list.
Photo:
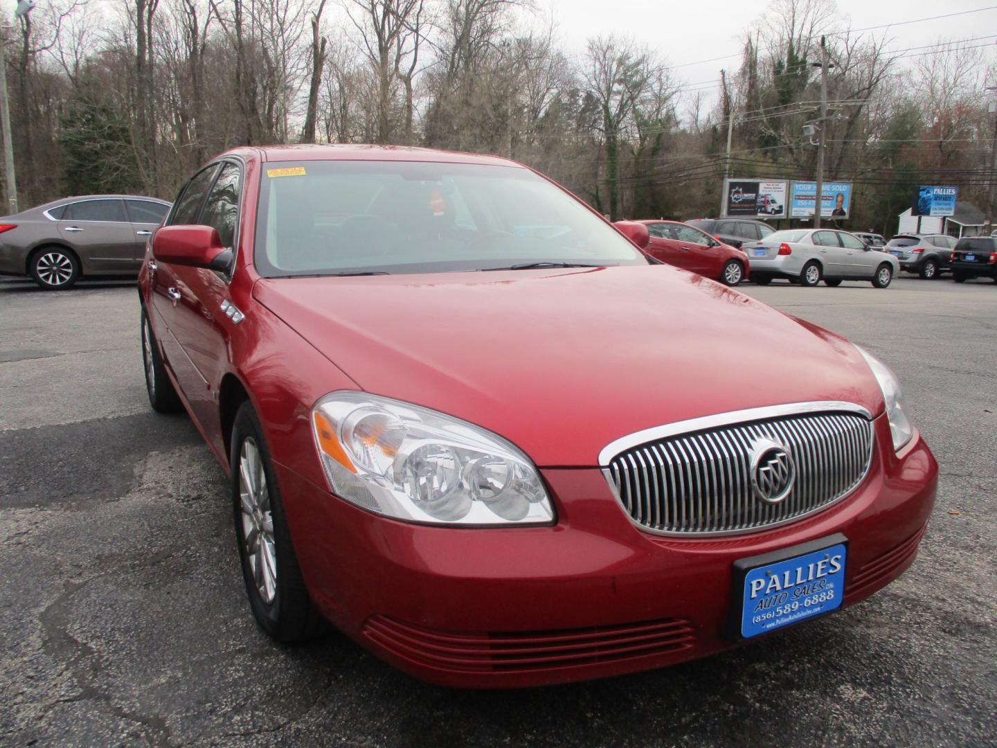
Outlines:
[[647, 240], [492, 157], [239, 149], [190, 179], [140, 278], [149, 398], [229, 476], [268, 634], [324, 618], [426, 680], [537, 685], [778, 635], [910, 565], [937, 466], [889, 369]]

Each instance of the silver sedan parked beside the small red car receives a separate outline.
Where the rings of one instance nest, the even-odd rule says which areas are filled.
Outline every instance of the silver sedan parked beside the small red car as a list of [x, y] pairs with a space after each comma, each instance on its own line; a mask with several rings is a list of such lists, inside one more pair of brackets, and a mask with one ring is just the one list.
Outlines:
[[776, 231], [742, 249], [751, 260], [751, 279], [765, 285], [788, 278], [800, 285], [831, 286], [842, 280], [868, 280], [885, 288], [900, 270], [891, 254], [869, 248], [860, 238], [832, 228]]

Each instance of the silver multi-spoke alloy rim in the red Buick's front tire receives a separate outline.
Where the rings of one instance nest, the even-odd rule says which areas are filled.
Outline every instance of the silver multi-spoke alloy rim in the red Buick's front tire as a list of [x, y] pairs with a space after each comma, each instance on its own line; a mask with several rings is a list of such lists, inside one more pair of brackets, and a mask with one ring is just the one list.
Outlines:
[[246, 437], [239, 452], [239, 502], [242, 538], [253, 582], [260, 599], [271, 604], [277, 594], [277, 555], [273, 515], [263, 460], [256, 440]]

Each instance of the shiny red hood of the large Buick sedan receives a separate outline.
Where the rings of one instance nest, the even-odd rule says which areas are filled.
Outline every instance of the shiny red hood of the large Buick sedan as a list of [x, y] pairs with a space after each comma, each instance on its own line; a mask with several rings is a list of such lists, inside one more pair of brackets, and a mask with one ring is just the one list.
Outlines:
[[491, 429], [540, 467], [747, 408], [882, 410], [843, 338], [668, 265], [261, 279], [253, 296], [362, 389]]

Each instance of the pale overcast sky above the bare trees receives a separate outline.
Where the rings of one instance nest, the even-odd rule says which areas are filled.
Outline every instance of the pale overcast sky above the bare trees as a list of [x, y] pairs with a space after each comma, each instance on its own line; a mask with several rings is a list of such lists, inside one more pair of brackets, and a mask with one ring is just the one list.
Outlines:
[[[737, 70], [738, 58], [688, 65], [700, 60], [739, 55], [741, 34], [759, 21], [768, 1], [753, 0], [553, 0], [558, 35], [563, 44], [580, 55], [588, 37], [621, 34], [645, 42], [663, 55], [680, 83], [710, 88], [719, 80], [721, 68]], [[995, 5], [997, 3], [990, 3]], [[986, 0], [838, 0], [837, 7], [853, 29], [898, 24], [960, 11], [987, 7]], [[901, 50], [933, 44], [939, 38], [966, 40], [991, 35], [968, 45], [989, 44], [982, 52], [989, 60], [997, 58], [997, 9], [939, 18], [920, 23], [877, 29], [869, 34], [886, 34], [893, 41], [889, 49]], [[908, 53], [909, 54], [909, 53]]]

